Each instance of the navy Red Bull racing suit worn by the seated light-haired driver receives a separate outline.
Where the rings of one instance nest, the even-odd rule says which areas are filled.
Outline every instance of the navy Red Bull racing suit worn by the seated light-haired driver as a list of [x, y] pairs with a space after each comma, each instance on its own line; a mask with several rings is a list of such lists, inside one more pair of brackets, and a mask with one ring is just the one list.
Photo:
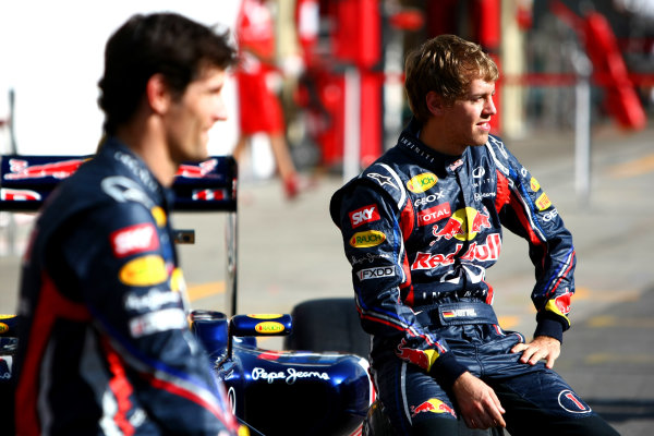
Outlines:
[[[412, 120], [398, 144], [330, 203], [361, 323], [373, 338], [373, 375], [396, 429], [409, 433], [425, 411], [456, 417], [449, 389], [465, 371], [502, 383], [512, 377], [492, 386], [529, 398], [549, 414], [545, 421], [591, 415], [558, 374], [510, 353], [524, 337], [498, 326], [485, 280], [502, 227], [525, 239], [536, 279], [534, 335], [561, 341], [576, 254], [557, 209], [498, 137], [447, 156], [423, 144], [419, 129]], [[536, 392], [534, 384], [547, 389]]]

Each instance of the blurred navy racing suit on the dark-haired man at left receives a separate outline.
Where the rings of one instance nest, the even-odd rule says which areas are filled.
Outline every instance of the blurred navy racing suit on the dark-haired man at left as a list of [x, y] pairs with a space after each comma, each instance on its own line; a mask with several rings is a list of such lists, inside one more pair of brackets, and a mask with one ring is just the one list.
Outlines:
[[25, 253], [19, 435], [234, 435], [187, 328], [172, 193], [116, 138], [48, 198]]

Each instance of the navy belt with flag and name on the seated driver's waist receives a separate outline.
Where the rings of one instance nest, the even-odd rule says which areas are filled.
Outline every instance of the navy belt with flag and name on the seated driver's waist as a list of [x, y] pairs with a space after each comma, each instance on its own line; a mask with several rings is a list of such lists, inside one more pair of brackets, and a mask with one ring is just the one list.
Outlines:
[[482, 302], [440, 303], [414, 307], [419, 320], [440, 326], [498, 324], [493, 306]]

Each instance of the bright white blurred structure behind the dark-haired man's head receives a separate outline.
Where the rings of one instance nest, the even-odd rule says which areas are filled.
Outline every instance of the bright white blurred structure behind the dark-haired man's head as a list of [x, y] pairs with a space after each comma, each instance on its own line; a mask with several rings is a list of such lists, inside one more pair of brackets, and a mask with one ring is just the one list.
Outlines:
[[[97, 83], [109, 36], [135, 13], [172, 11], [207, 25], [233, 28], [239, 1], [82, 0], [0, 4], [0, 118], [15, 90], [14, 133], [21, 154], [92, 154], [101, 134]], [[231, 119], [217, 123], [209, 153], [226, 154], [237, 141], [235, 92], [226, 100]], [[0, 149], [7, 152], [7, 134]]]

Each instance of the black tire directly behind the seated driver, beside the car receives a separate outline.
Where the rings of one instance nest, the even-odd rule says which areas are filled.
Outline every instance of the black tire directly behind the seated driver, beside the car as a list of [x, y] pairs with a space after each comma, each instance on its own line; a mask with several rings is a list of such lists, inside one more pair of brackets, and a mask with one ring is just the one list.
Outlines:
[[361, 328], [353, 298], [305, 301], [291, 316], [293, 332], [284, 338], [284, 349], [338, 351], [367, 359], [370, 336]]

